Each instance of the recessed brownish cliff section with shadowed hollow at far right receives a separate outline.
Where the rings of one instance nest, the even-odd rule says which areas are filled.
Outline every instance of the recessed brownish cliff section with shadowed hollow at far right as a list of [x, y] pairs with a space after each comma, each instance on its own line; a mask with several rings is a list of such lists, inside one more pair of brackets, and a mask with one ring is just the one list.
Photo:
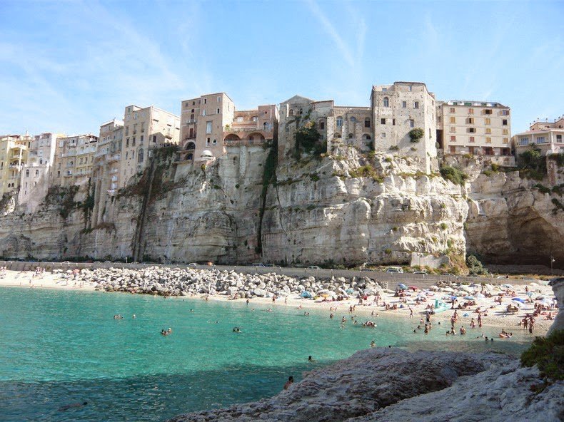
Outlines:
[[[564, 212], [518, 172], [479, 175], [468, 192], [468, 252], [493, 264], [564, 262]], [[560, 196], [560, 199], [562, 197]]]

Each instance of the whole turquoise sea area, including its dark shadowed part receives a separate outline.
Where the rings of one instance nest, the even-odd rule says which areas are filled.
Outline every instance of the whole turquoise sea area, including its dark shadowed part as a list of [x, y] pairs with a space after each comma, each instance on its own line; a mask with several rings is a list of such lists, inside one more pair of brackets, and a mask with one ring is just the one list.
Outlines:
[[[380, 317], [376, 329], [367, 329], [359, 317], [359, 325], [349, 321], [341, 329], [342, 312], [329, 319], [327, 312], [308, 310], [306, 317], [281, 304], [265, 309], [252, 302], [0, 288], [0, 421], [163, 421], [272, 396], [289, 375], [299, 380], [303, 371], [351, 356], [371, 340], [512, 354], [530, 341], [473, 339], [498, 331], [486, 327], [468, 329], [465, 341], [438, 326], [424, 336], [413, 334], [417, 320], [403, 318]], [[173, 334], [161, 336], [169, 326]], [[243, 332], [233, 333], [233, 326]], [[57, 411], [83, 401], [89, 405]]]

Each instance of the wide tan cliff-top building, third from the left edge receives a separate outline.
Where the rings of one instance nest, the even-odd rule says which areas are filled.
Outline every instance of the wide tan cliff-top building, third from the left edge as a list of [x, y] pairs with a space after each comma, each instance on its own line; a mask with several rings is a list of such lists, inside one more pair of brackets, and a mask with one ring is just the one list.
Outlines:
[[59, 138], [55, 151], [51, 185], [69, 187], [88, 183], [94, 167], [98, 137], [74, 135]]

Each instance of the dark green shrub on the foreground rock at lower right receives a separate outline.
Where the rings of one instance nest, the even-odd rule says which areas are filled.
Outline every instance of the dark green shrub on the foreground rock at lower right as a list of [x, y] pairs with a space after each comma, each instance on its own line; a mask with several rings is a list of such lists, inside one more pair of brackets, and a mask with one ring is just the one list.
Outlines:
[[554, 380], [564, 379], [564, 330], [550, 336], [536, 337], [533, 344], [521, 354], [523, 366], [538, 366], [541, 376]]

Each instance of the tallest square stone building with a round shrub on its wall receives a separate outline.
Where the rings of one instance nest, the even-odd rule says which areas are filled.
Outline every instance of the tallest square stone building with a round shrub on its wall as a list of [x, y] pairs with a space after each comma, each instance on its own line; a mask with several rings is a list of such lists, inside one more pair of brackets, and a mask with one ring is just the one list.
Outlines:
[[[421, 82], [394, 82], [372, 87], [374, 150], [419, 160], [425, 173], [436, 168], [435, 96]], [[410, 132], [421, 128], [423, 137], [413, 142]]]

